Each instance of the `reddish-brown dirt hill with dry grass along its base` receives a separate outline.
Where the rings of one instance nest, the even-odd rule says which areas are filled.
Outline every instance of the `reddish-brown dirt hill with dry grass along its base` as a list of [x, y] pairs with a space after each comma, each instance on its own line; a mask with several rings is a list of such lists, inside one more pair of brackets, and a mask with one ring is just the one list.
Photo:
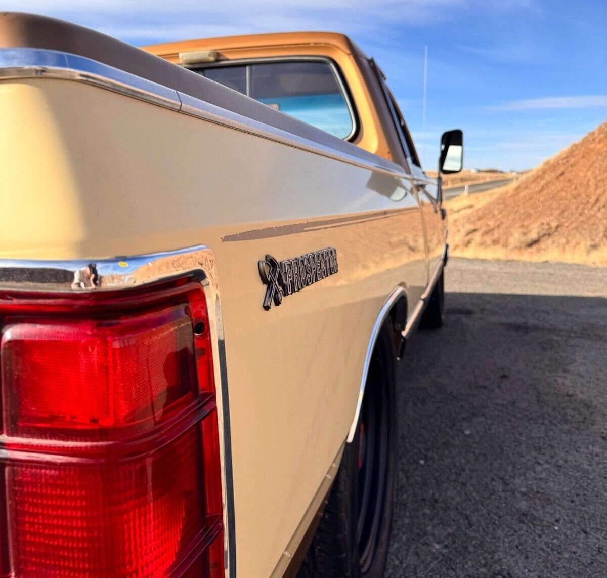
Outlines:
[[607, 123], [517, 185], [447, 209], [453, 254], [607, 265]]

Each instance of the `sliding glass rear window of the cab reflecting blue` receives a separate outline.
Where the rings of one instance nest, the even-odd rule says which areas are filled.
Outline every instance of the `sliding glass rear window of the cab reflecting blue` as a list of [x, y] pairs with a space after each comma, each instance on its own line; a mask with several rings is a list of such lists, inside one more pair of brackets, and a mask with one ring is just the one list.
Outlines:
[[354, 134], [351, 104], [327, 61], [213, 65], [195, 72], [338, 138]]

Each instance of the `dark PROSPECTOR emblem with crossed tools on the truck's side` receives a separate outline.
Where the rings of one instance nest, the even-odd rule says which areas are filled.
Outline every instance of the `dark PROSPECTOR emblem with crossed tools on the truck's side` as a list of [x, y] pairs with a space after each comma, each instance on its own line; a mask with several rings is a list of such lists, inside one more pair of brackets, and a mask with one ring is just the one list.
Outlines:
[[284, 261], [266, 255], [258, 266], [259, 276], [268, 285], [263, 299], [266, 311], [270, 310], [273, 303], [280, 305], [285, 295], [296, 293], [339, 270], [337, 251], [333, 247]]

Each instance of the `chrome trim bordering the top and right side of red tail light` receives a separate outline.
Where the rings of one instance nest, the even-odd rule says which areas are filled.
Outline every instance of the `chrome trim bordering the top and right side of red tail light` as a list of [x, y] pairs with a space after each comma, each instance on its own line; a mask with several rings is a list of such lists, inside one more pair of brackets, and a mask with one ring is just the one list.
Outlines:
[[223, 335], [217, 267], [212, 251], [200, 245], [167, 253], [100, 260], [0, 259], [0, 291], [92, 293], [141, 287], [177, 277], [192, 277], [205, 291], [211, 331], [213, 369], [217, 384], [217, 421], [220, 432], [223, 526], [226, 578], [236, 576], [234, 485], [229, 420], [228, 372]]

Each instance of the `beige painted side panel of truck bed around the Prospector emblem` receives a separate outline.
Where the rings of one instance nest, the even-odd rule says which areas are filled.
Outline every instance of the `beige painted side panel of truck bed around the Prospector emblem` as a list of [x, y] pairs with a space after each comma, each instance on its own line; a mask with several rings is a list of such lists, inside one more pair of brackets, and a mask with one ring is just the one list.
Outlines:
[[[385, 298], [402, 285], [411, 310], [427, 283], [411, 183], [72, 81], [3, 81], [0, 110], [0, 257], [214, 251], [237, 567], [269, 576], [344, 443]], [[338, 274], [263, 310], [257, 260], [330, 246]]]

